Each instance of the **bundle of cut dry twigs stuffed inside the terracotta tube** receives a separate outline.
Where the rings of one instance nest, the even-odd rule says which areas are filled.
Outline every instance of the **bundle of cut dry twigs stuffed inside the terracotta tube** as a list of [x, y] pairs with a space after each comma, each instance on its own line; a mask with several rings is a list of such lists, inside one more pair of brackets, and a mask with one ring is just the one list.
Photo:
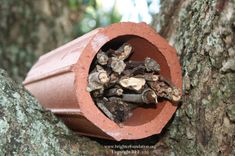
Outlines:
[[111, 120], [120, 123], [132, 110], [155, 105], [159, 98], [178, 102], [180, 90], [159, 74], [160, 65], [152, 58], [129, 60], [134, 50], [124, 43], [117, 50], [100, 50], [88, 77], [88, 87], [96, 105]]

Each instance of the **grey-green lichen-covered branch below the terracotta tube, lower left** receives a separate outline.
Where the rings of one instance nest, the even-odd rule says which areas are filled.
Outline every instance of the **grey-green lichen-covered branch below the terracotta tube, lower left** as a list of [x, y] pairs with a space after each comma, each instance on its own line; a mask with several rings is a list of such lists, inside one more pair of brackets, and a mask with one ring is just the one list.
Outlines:
[[0, 69], [0, 155], [110, 155], [73, 134]]

